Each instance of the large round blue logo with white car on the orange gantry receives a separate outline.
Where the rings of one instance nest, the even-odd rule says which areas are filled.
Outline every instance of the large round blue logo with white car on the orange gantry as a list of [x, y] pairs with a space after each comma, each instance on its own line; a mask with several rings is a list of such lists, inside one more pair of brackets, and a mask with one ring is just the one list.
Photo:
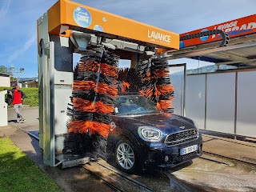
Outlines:
[[73, 17], [78, 26], [87, 27], [90, 26], [92, 22], [89, 10], [86, 10], [86, 8], [82, 6], [78, 6], [74, 9]]

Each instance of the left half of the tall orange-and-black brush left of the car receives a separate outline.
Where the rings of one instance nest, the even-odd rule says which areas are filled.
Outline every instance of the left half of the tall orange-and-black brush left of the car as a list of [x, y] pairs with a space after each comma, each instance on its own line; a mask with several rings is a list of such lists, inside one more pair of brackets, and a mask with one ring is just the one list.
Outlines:
[[69, 134], [65, 139], [64, 153], [74, 154], [90, 150], [88, 149], [90, 146], [85, 147], [83, 143], [89, 142], [88, 132], [90, 126], [93, 126], [90, 122], [95, 112], [92, 104], [95, 98], [94, 89], [101, 59], [102, 53], [100, 51], [86, 50], [74, 68], [71, 103], [67, 107], [67, 114], [70, 117], [67, 121]]

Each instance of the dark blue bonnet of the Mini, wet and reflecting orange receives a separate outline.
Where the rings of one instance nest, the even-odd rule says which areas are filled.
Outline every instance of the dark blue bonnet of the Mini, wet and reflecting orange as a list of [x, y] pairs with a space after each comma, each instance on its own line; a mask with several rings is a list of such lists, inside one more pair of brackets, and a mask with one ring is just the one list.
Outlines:
[[170, 113], [126, 116], [126, 124], [136, 124], [137, 127], [154, 126], [166, 133], [195, 128], [194, 123], [190, 118]]

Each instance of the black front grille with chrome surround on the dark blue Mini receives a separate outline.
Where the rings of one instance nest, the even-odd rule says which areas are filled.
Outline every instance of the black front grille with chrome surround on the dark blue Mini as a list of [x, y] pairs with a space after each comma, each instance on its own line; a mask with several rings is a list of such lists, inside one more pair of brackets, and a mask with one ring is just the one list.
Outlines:
[[169, 134], [166, 137], [165, 144], [166, 146], [177, 145], [182, 142], [189, 142], [191, 140], [194, 140], [194, 138], [197, 138], [197, 137], [198, 137], [197, 130], [183, 130], [178, 133]]

